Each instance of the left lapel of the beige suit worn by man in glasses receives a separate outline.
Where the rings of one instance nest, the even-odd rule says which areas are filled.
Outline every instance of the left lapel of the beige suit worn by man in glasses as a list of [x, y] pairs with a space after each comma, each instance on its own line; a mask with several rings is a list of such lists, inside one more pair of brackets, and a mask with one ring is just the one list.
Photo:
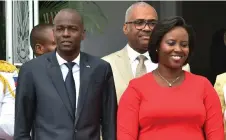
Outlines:
[[126, 85], [133, 79], [132, 68], [126, 47], [118, 53], [118, 59], [115, 59], [115, 65], [124, 79]]

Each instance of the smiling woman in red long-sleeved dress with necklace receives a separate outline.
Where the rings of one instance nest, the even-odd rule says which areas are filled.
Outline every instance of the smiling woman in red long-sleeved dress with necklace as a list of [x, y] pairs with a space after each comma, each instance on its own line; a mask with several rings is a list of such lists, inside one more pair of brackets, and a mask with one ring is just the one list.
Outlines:
[[158, 68], [131, 80], [122, 95], [117, 140], [224, 140], [216, 91], [205, 77], [182, 70], [193, 48], [183, 18], [155, 26], [148, 51]]

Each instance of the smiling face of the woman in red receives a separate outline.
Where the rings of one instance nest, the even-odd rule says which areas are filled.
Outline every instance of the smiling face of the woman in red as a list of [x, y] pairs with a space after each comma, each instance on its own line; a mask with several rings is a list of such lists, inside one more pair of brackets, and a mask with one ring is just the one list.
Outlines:
[[183, 27], [166, 33], [158, 51], [159, 63], [170, 68], [182, 68], [189, 54], [189, 37]]

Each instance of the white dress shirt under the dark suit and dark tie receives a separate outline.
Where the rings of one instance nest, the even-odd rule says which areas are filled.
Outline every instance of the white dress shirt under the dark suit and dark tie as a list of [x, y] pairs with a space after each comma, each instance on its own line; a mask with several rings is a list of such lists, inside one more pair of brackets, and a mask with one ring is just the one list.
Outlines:
[[[60, 65], [60, 69], [63, 75], [63, 79], [65, 81], [66, 76], [68, 74], [68, 67], [65, 65], [67, 63], [66, 60], [64, 60], [60, 55], [56, 52], [56, 58]], [[75, 65], [72, 68], [73, 77], [75, 81], [75, 88], [76, 88], [76, 108], [78, 104], [78, 96], [79, 96], [79, 88], [80, 88], [80, 54], [72, 61], [75, 63]]]

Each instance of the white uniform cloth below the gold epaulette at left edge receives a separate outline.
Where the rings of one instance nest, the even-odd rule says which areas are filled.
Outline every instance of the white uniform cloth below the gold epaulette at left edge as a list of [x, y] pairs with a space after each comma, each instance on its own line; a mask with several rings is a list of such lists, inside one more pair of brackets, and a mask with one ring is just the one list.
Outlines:
[[[15, 94], [16, 85], [13, 77], [17, 77], [18, 73], [0, 72], [9, 83]], [[4, 92], [5, 87], [5, 92]], [[14, 134], [14, 118], [15, 116], [15, 98], [9, 92], [7, 86], [0, 81], [0, 139], [12, 140]]]

